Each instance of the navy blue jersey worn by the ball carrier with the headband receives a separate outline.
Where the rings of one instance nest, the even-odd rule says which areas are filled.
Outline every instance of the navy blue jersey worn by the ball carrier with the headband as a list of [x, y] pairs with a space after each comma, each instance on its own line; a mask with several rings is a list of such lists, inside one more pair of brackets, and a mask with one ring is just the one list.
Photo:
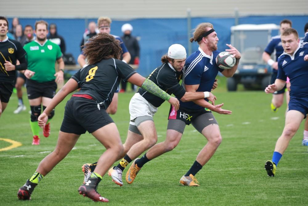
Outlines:
[[[212, 55], [209, 56], [205, 54], [202, 49], [199, 49], [192, 53], [187, 59], [183, 69], [183, 87], [186, 85], [196, 85], [199, 84], [197, 91], [205, 92], [211, 91], [215, 78], [218, 72], [222, 72], [221, 69], [216, 64], [216, 57], [219, 51], [213, 51]], [[205, 99], [209, 101], [208, 99]], [[180, 99], [179, 99], [180, 101]], [[193, 103], [193, 102], [182, 102], [180, 105], [186, 108], [201, 109], [203, 107]]]

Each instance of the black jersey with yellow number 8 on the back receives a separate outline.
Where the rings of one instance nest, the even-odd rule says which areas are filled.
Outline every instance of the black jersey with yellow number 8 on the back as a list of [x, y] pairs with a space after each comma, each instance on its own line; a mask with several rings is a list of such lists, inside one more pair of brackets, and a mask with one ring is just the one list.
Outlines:
[[135, 73], [136, 71], [128, 64], [110, 58], [79, 69], [71, 78], [76, 80], [78, 87], [81, 88], [75, 94], [90, 95], [107, 109], [121, 79], [127, 81]]

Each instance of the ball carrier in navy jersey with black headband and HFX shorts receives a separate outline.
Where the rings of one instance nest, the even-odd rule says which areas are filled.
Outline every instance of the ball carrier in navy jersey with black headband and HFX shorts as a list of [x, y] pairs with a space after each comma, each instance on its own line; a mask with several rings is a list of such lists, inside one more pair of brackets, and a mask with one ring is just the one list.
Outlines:
[[[235, 58], [237, 58], [237, 63], [231, 69], [224, 70], [218, 68], [215, 62], [215, 57], [219, 53], [217, 51], [218, 38], [211, 23], [199, 24], [195, 29], [193, 38], [190, 39], [191, 42], [193, 42], [193, 40], [198, 42], [199, 48], [187, 58], [183, 68], [182, 85], [186, 92], [210, 92], [218, 71], [226, 77], [231, 77], [234, 74], [241, 54], [236, 48], [227, 44], [230, 49], [226, 49], [226, 51], [232, 53]], [[180, 52], [178, 49], [169, 50], [168, 56], [172, 57], [173, 55], [177, 55], [178, 52]], [[231, 114], [232, 112], [222, 109], [223, 103], [217, 105], [215, 105], [213, 101], [212, 104], [209, 103], [209, 98], [183, 101], [183, 99], [180, 99], [177, 95], [176, 97], [180, 101], [180, 108], [177, 111], [172, 107], [170, 108], [166, 140], [154, 145], [143, 157], [140, 159], [138, 158], [133, 163], [126, 174], [126, 181], [129, 180], [128, 183], [133, 182], [136, 174], [145, 163], [175, 148], [181, 140], [185, 126], [192, 124], [208, 142], [197, 155], [196, 161], [191, 168], [181, 177], [180, 184], [186, 186], [199, 186], [195, 174], [201, 170], [202, 166], [213, 156], [222, 139], [218, 123], [211, 111], [215, 111], [219, 114]]]

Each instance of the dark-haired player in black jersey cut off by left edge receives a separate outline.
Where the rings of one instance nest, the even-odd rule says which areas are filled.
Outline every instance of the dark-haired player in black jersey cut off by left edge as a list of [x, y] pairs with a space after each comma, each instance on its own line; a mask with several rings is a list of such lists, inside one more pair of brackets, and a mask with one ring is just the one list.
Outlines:
[[[0, 116], [5, 110], [14, 88], [16, 71], [27, 68], [26, 52], [18, 41], [7, 37], [9, 23], [0, 16]], [[16, 65], [16, 61], [20, 65]]]

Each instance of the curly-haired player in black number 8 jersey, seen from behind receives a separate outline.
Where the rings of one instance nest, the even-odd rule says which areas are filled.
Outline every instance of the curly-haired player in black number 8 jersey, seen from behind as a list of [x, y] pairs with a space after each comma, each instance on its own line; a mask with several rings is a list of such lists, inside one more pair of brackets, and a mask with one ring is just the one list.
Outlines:
[[71, 151], [80, 135], [88, 131], [107, 150], [99, 158], [91, 177], [79, 187], [79, 194], [94, 201], [109, 201], [97, 193], [96, 188], [102, 176], [123, 152], [118, 129], [106, 112], [122, 79], [167, 100], [176, 109], [179, 108], [179, 101], [176, 98], [171, 97], [152, 81], [140, 76], [128, 64], [119, 60], [122, 49], [119, 41], [113, 36], [99, 33], [91, 38], [83, 51], [89, 65], [80, 69], [68, 80], [38, 118], [39, 126], [44, 127], [50, 112], [68, 94], [80, 88], [65, 106], [55, 150], [40, 162], [33, 176], [19, 189], [18, 198], [21, 200], [30, 199], [39, 181]]

